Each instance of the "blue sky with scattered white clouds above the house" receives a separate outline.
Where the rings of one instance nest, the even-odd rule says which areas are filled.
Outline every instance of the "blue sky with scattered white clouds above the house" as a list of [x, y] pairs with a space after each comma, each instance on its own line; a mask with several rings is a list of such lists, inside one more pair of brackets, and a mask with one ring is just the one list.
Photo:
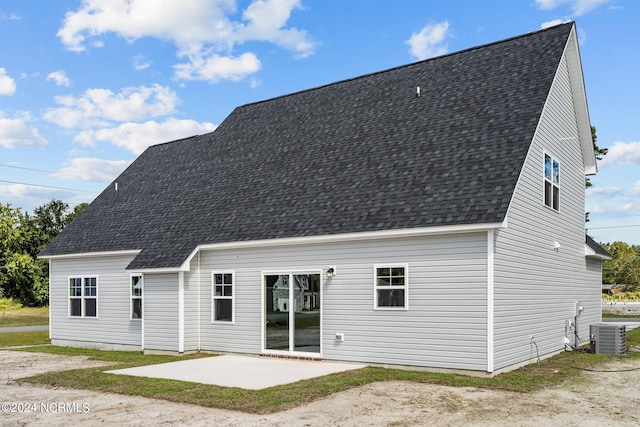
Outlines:
[[0, 0], [0, 203], [90, 202], [236, 106], [569, 20], [609, 148], [589, 233], [640, 244], [636, 0]]

